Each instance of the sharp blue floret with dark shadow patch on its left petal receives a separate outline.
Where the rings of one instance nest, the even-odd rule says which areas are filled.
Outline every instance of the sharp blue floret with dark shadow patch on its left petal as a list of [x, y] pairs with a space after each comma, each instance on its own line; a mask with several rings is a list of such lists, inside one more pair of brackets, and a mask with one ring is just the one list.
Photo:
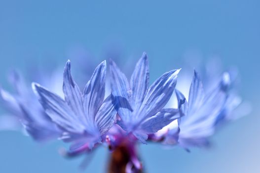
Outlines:
[[130, 83], [113, 61], [110, 62], [110, 71], [112, 102], [120, 117], [117, 124], [123, 130], [145, 143], [148, 134], [180, 117], [177, 109], [163, 109], [174, 91], [180, 70], [163, 74], [149, 87], [148, 58], [144, 53]]

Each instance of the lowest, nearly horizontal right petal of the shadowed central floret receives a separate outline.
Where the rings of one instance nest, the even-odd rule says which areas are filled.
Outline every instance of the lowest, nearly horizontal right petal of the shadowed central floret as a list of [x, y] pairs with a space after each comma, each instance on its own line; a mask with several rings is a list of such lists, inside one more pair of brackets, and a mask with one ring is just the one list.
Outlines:
[[177, 118], [180, 118], [178, 109], [162, 109], [155, 116], [150, 117], [144, 123], [142, 123], [141, 129], [147, 133], [155, 133]]

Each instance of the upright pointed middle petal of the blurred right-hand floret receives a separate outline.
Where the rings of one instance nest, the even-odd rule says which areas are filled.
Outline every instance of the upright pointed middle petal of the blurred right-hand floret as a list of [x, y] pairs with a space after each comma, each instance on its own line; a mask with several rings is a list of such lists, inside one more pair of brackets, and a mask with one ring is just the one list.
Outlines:
[[205, 96], [202, 82], [195, 70], [188, 95], [188, 114], [193, 114], [200, 108]]

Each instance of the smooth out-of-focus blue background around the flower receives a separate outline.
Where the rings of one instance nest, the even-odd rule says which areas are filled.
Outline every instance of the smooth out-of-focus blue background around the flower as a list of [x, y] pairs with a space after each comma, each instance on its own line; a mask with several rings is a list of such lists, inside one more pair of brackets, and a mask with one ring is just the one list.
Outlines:
[[[240, 93], [253, 107], [250, 115], [220, 130], [211, 149], [187, 153], [142, 145], [147, 172], [260, 173], [259, 0], [0, 0], [0, 84], [5, 88], [13, 68], [26, 72], [32, 66], [64, 66], [67, 59], [82, 55], [94, 65], [115, 58], [122, 67], [143, 51], [152, 81], [182, 67], [186, 56], [202, 62], [220, 57], [224, 67], [238, 67]], [[61, 146], [1, 131], [0, 173], [79, 172], [83, 158], [62, 158], [57, 153]], [[107, 154], [105, 148], [97, 150], [85, 172], [103, 173]]]

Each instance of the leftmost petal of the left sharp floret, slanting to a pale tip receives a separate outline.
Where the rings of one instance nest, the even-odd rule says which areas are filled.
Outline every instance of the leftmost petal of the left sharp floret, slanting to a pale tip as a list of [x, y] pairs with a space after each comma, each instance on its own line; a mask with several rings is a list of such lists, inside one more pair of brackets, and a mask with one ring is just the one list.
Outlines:
[[74, 114], [68, 104], [58, 95], [48, 91], [38, 84], [33, 83], [33, 89], [39, 96], [39, 101], [47, 115], [63, 130], [83, 133], [82, 120]]

